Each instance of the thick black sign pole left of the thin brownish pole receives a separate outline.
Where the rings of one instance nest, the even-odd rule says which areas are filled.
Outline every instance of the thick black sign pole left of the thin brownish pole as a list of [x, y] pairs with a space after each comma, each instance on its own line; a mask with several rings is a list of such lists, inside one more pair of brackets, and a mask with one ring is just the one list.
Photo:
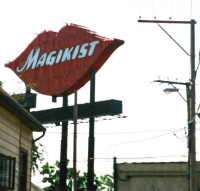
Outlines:
[[[63, 96], [63, 108], [68, 106], [68, 95]], [[67, 190], [67, 136], [68, 136], [68, 121], [62, 122], [62, 137], [60, 148], [60, 182], [59, 191]]]

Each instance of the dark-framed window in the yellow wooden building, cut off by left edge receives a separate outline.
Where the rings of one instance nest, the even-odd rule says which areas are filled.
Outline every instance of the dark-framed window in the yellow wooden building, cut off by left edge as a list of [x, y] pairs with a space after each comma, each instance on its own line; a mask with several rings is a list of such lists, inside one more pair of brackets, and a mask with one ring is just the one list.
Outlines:
[[0, 190], [14, 190], [15, 158], [0, 154]]

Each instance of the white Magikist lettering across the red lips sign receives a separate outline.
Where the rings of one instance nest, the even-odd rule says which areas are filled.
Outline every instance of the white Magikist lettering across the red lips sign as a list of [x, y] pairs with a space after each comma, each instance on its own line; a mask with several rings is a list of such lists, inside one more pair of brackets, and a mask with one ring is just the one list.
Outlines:
[[[34, 53], [34, 49], [28, 55], [28, 58], [22, 68], [17, 67], [18, 73], [28, 69], [35, 69], [43, 67], [44, 65], [52, 66], [54, 63], [70, 61], [74, 59], [85, 58], [86, 56], [92, 56], [96, 46], [100, 41], [93, 41], [91, 43], [84, 43], [75, 47], [67, 47], [65, 50], [52, 51], [50, 53], [44, 53], [40, 57], [40, 48]], [[57, 54], [57, 56], [56, 56]]]

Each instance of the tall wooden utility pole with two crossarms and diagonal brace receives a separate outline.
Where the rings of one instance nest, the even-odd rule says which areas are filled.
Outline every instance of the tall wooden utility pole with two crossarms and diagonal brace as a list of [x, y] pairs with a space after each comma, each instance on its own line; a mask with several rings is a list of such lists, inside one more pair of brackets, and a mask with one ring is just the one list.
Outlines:
[[[187, 54], [190, 56], [190, 82], [178, 83], [170, 81], [157, 80], [155, 82], [186, 85], [187, 90], [187, 110], [188, 110], [188, 167], [189, 167], [189, 191], [197, 191], [196, 174], [196, 131], [195, 131], [195, 20], [189, 21], [159, 21], [159, 20], [138, 20], [138, 22], [158, 23], [158, 26]], [[190, 24], [190, 54], [188, 54], [160, 25], [159, 23], [171, 24]]]

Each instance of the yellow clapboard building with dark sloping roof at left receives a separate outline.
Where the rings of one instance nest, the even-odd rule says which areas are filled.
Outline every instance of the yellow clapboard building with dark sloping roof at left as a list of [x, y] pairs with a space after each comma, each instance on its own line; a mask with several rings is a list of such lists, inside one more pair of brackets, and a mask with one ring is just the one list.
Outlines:
[[0, 191], [31, 191], [33, 131], [45, 134], [41, 123], [0, 87]]

